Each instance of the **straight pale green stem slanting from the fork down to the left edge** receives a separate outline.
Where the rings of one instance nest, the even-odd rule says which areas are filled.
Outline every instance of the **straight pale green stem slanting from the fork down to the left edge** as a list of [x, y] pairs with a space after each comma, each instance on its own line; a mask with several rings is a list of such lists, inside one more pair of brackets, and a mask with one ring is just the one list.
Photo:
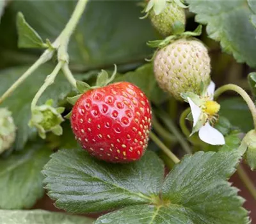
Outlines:
[[28, 70], [26, 70], [26, 72], [24, 72], [24, 74], [22, 74], [22, 76], [20, 76], [19, 79], [17, 79], [17, 81], [15, 81], [15, 83], [12, 84], [12, 86], [10, 86], [10, 88], [8, 88], [8, 90], [6, 90], [6, 92], [3, 93], [3, 95], [0, 98], [0, 104], [7, 97], [9, 97], [13, 93], [13, 91], [16, 90], [16, 88], [18, 88], [20, 84], [22, 84], [25, 81], [27, 77], [29, 77], [33, 72], [35, 72], [35, 70], [38, 67], [40, 67], [40, 65], [43, 65], [45, 62], [49, 61], [52, 58], [53, 53], [54, 50], [47, 49], [42, 54], [42, 56], [40, 56], [40, 58], [38, 58], [38, 60], [35, 61], [35, 63], [33, 63], [33, 65], [29, 67]]

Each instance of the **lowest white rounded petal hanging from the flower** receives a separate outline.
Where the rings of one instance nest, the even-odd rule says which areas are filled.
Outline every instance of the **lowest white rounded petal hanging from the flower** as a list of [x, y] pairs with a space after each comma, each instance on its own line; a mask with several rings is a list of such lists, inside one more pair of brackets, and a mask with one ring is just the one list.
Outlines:
[[199, 130], [199, 138], [200, 140], [210, 144], [210, 145], [224, 145], [225, 138], [223, 134], [217, 129], [214, 129], [209, 122], [207, 122], [203, 127]]

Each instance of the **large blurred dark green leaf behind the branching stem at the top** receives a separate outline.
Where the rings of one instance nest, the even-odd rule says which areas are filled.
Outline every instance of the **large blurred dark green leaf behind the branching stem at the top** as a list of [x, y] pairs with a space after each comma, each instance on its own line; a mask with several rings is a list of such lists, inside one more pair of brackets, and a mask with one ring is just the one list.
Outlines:
[[[108, 68], [114, 63], [127, 68], [143, 62], [152, 53], [145, 44], [156, 39], [149, 20], [140, 20], [136, 1], [90, 1], [72, 35], [68, 53], [77, 70]], [[77, 1], [13, 1], [14, 12], [24, 13], [29, 24], [51, 42], [60, 35]], [[42, 22], [44, 21], [44, 22]], [[111, 24], [111, 26], [109, 26]]]

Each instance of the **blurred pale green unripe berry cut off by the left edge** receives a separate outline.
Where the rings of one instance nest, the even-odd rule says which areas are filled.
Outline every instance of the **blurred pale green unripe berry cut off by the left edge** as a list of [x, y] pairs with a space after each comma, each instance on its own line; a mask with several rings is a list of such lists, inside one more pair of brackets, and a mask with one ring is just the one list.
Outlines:
[[16, 127], [13, 122], [12, 113], [6, 108], [0, 109], [0, 154], [12, 147], [15, 141]]

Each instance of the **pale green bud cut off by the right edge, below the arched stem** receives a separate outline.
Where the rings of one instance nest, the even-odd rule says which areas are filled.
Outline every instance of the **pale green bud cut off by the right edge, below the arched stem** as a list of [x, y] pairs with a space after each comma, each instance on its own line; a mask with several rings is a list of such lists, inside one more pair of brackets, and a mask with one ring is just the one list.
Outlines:
[[247, 145], [245, 159], [252, 170], [256, 169], [256, 131], [249, 131], [244, 137], [244, 143]]

